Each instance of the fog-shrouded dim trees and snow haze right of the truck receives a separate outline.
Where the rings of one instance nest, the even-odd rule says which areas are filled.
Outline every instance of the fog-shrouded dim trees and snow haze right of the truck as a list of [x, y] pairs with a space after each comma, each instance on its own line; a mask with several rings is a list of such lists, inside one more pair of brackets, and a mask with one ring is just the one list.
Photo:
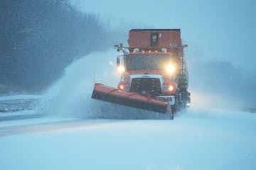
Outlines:
[[[196, 50], [186, 50], [189, 70], [189, 89], [192, 96], [205, 106], [220, 108], [255, 107], [256, 74], [250, 73], [232, 62], [203, 60]], [[193, 98], [193, 97], [192, 97]], [[196, 105], [199, 105], [199, 103]]]

